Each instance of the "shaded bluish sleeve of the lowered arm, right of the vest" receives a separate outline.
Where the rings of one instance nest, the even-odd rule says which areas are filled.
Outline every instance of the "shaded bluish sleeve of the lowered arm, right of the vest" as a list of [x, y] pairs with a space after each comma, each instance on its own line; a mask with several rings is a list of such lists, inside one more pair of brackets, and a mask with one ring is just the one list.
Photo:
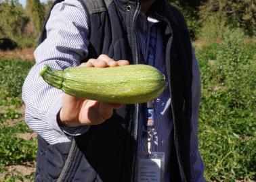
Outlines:
[[194, 51], [192, 50], [192, 131], [190, 139], [190, 158], [191, 158], [191, 181], [205, 181], [205, 166], [198, 150], [198, 110], [200, 104], [200, 71]]

